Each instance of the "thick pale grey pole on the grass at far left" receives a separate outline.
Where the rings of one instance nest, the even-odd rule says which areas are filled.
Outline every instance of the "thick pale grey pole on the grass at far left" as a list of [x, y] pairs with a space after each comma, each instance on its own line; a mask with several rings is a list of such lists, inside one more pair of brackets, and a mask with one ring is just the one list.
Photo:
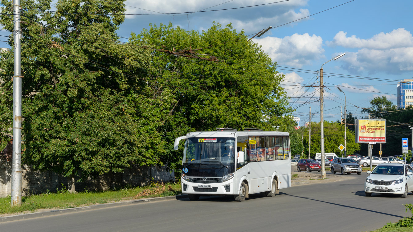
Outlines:
[[12, 206], [21, 206], [21, 68], [20, 68], [20, 0], [13, 0], [13, 167]]

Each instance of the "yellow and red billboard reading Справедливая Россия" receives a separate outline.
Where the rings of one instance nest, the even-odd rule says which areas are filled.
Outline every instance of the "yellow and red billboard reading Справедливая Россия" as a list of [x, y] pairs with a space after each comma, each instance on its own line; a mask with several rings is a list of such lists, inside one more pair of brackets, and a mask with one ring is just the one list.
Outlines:
[[358, 119], [355, 132], [356, 143], [386, 143], [386, 120]]

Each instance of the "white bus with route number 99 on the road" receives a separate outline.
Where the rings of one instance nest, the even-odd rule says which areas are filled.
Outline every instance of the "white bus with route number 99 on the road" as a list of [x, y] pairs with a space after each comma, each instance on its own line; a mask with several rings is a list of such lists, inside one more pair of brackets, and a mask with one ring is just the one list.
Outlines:
[[291, 187], [290, 136], [287, 132], [231, 128], [190, 132], [182, 159], [182, 193], [190, 200], [202, 195], [233, 195], [244, 201], [249, 194], [274, 197]]

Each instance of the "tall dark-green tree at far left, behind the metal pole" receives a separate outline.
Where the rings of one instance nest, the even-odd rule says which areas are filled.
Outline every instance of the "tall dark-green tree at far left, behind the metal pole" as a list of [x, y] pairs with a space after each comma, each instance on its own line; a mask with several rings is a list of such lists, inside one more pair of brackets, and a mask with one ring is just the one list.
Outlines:
[[[148, 67], [142, 61], [149, 51], [117, 42], [123, 1], [59, 0], [53, 11], [50, 4], [21, 1], [23, 162], [66, 176], [71, 192], [75, 177], [121, 172], [132, 162], [159, 163], [153, 153], [164, 150], [154, 145], [161, 141], [151, 127], [166, 117], [173, 94], [165, 91], [149, 100], [150, 88], [140, 80], [145, 79]], [[12, 32], [12, 2], [2, 0], [2, 5], [6, 14], [0, 22]], [[5, 94], [0, 96], [0, 125], [7, 131], [12, 52], [2, 54], [2, 59], [0, 83]], [[157, 117], [146, 112], [162, 103]]]

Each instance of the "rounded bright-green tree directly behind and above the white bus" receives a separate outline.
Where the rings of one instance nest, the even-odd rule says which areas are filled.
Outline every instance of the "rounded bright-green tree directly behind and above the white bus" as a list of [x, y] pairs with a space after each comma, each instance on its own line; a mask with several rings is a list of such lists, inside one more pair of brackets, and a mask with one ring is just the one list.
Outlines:
[[[292, 109], [276, 63], [231, 24], [223, 28], [214, 23], [200, 33], [171, 23], [150, 25], [139, 35], [132, 33], [130, 42], [152, 47], [148, 86], [157, 90], [154, 95], [167, 90], [174, 94], [175, 104], [161, 129], [167, 144], [162, 160], [171, 167], [180, 165], [182, 154], [173, 151], [173, 140], [190, 131], [282, 130], [290, 122], [282, 117]], [[171, 56], [173, 51], [185, 56]], [[218, 61], [205, 60], [211, 57]]]

